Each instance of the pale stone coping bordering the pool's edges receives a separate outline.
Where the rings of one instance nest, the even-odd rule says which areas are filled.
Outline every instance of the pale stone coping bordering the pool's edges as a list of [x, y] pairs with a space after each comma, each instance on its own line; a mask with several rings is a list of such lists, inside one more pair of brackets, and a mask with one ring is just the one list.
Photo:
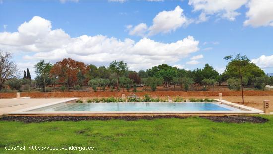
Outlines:
[[[47, 107], [50, 105], [56, 105], [59, 103], [75, 102], [79, 98], [69, 98], [62, 101], [56, 101], [52, 103], [47, 103], [39, 106], [34, 106], [31, 108], [21, 109], [9, 113], [4, 113], [4, 116], [156, 116], [156, 115], [239, 115], [239, 114], [261, 114], [262, 110], [258, 110], [245, 105], [240, 105], [236, 103], [231, 103], [226, 100], [218, 100], [218, 103], [240, 109], [241, 111], [29, 111], [42, 107]], [[123, 102], [126, 103], [126, 102]], [[150, 102], [158, 103], [158, 102]], [[162, 102], [164, 103], [164, 102]], [[181, 102], [184, 103], [184, 102]], [[202, 103], [202, 102], [200, 102]], [[205, 102], [203, 102], [205, 103]]]

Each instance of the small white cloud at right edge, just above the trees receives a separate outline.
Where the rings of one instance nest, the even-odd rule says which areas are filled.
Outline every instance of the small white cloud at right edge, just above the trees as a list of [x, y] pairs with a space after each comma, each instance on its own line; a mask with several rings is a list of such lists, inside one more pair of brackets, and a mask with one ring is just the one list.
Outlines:
[[273, 55], [265, 56], [262, 55], [257, 59], [252, 59], [251, 62], [255, 63], [261, 68], [273, 68]]

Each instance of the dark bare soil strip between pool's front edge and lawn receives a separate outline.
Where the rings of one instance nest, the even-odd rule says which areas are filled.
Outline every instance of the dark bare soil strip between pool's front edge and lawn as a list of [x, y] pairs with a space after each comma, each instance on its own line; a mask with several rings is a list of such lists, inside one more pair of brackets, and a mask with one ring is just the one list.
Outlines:
[[[255, 116], [200, 116], [213, 122], [229, 122], [229, 123], [265, 123], [268, 119]], [[118, 117], [90, 117], [90, 116], [5, 116], [0, 120], [20, 121], [24, 123], [39, 123], [49, 121], [81, 121], [81, 120], [110, 120], [121, 119], [126, 121], [135, 121], [140, 119], [153, 120], [159, 118], [179, 118], [185, 119], [188, 116], [118, 116]]]

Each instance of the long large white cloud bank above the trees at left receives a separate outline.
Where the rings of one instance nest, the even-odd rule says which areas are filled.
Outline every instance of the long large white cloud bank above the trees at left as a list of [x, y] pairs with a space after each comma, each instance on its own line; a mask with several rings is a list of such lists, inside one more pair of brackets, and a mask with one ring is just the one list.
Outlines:
[[16, 32], [0, 32], [0, 48], [16, 55], [17, 63], [34, 63], [45, 59], [54, 63], [73, 58], [87, 64], [109, 65], [125, 60], [129, 69], [140, 70], [162, 63], [175, 64], [197, 52], [199, 41], [193, 36], [171, 43], [142, 38], [138, 42], [104, 35], [71, 37], [62, 29], [52, 29], [51, 21], [34, 16]]

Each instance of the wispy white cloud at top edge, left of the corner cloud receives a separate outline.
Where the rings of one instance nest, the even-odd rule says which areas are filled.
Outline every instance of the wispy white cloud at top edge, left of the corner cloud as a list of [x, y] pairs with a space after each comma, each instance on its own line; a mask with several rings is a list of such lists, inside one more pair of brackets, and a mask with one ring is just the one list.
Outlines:
[[247, 0], [190, 0], [188, 4], [193, 7], [193, 11], [201, 11], [196, 21], [199, 23], [207, 21], [211, 15], [234, 21], [240, 15], [236, 10], [246, 3]]

